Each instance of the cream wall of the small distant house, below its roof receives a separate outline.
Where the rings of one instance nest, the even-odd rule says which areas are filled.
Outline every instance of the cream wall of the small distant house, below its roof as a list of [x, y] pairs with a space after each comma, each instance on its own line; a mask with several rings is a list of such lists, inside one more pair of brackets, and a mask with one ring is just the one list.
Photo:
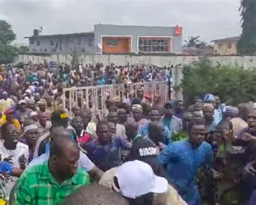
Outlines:
[[237, 42], [217, 42], [214, 44], [214, 53], [219, 55], [236, 55]]

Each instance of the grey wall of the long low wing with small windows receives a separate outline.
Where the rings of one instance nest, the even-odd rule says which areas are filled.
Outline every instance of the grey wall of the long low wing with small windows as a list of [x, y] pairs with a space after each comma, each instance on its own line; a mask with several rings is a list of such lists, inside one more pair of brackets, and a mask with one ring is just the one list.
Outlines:
[[35, 37], [29, 39], [31, 53], [70, 54], [73, 51], [84, 54], [95, 53], [94, 34], [84, 36]]

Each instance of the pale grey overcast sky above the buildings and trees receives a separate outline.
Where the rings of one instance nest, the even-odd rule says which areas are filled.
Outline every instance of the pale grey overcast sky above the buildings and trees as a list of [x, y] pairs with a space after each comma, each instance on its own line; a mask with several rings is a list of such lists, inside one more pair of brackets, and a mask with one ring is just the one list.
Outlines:
[[93, 31], [93, 25], [145, 25], [184, 27], [183, 39], [234, 37], [241, 33], [239, 0], [0, 0], [0, 19], [27, 43], [34, 28], [43, 34]]

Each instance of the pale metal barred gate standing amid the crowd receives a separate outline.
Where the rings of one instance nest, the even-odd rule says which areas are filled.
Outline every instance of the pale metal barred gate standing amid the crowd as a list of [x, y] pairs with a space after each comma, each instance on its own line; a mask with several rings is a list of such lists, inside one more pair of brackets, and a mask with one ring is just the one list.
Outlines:
[[[75, 105], [80, 105], [83, 108], [92, 108], [93, 115], [102, 116], [106, 113], [106, 100], [110, 96], [119, 96], [121, 99], [127, 97], [130, 90], [136, 94], [138, 88], [144, 89], [144, 93], [149, 93], [152, 96], [159, 95], [161, 102], [169, 99], [169, 84], [165, 81], [157, 82], [138, 82], [131, 84], [110, 84], [105, 86], [89, 86], [89, 87], [73, 87], [65, 88], [62, 96], [64, 108], [71, 111]], [[153, 99], [153, 97], [152, 97]]]

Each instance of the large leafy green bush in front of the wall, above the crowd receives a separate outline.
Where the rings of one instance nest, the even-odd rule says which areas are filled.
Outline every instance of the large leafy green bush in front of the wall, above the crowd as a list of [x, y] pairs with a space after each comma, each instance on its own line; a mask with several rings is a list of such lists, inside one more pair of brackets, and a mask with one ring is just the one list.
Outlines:
[[207, 93], [218, 95], [224, 102], [237, 105], [241, 102], [255, 101], [256, 70], [239, 66], [214, 65], [207, 58], [187, 65], [183, 69], [184, 101], [193, 102], [198, 95]]

